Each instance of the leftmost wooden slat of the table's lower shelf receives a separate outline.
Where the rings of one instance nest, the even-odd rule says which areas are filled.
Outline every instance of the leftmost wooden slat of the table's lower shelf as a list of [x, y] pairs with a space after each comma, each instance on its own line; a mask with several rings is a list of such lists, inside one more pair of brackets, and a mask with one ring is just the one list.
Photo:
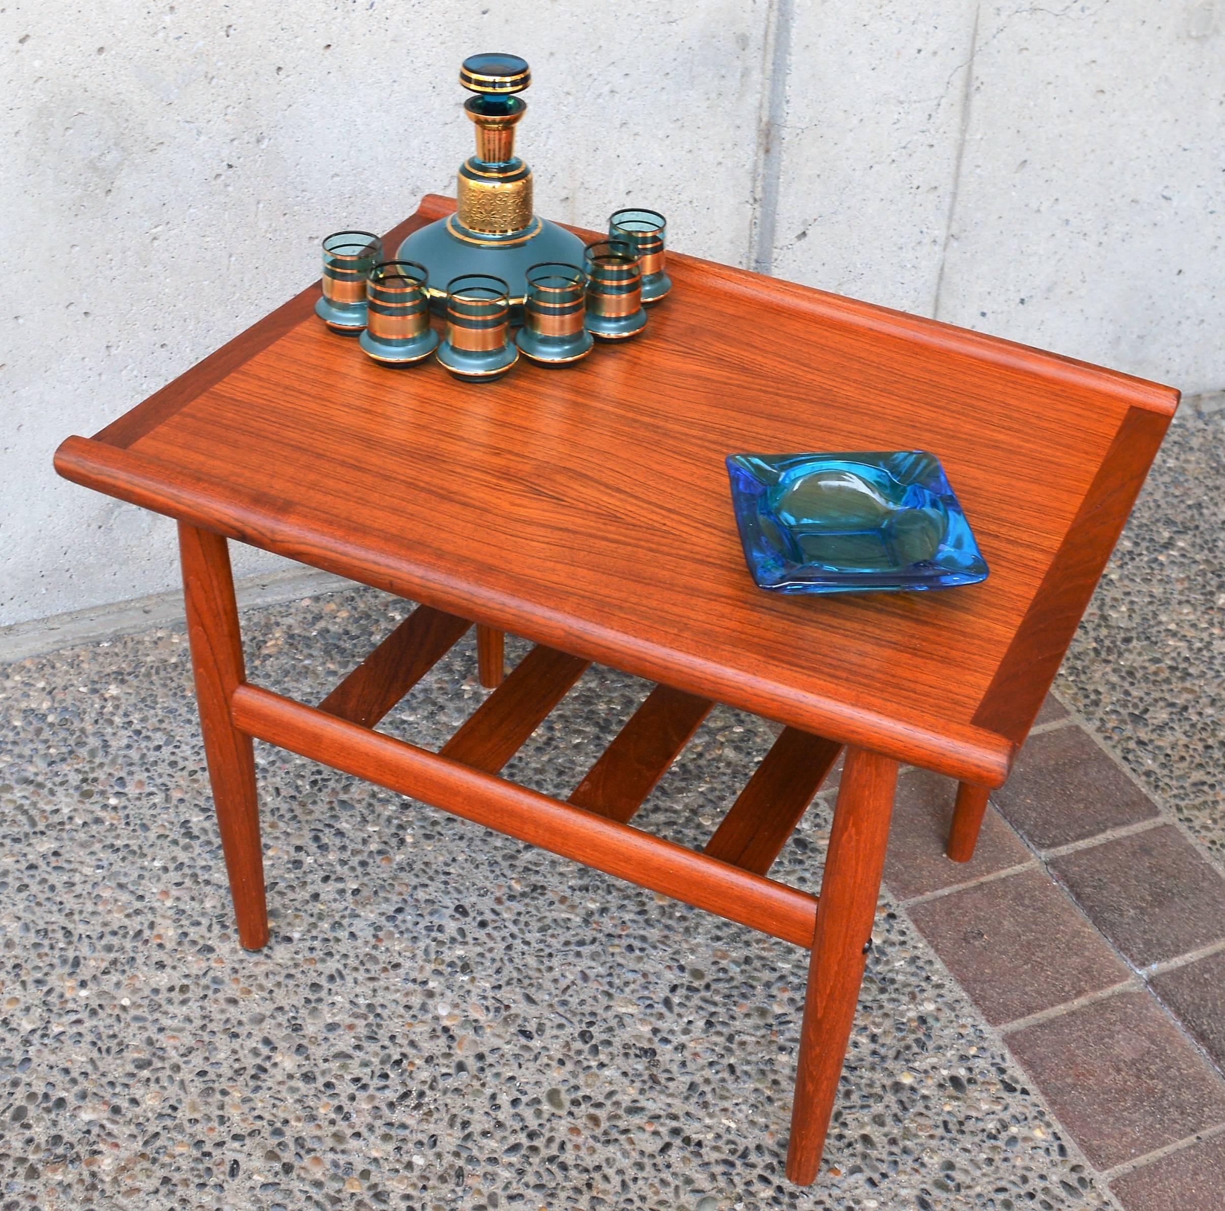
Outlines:
[[318, 708], [374, 727], [451, 648], [472, 623], [418, 606]]

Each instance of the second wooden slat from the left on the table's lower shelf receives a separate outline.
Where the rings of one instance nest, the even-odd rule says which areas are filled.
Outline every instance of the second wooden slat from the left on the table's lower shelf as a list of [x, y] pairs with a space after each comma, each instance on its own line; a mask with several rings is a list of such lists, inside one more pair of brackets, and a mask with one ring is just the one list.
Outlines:
[[589, 663], [552, 647], [533, 647], [440, 751], [474, 770], [497, 773]]

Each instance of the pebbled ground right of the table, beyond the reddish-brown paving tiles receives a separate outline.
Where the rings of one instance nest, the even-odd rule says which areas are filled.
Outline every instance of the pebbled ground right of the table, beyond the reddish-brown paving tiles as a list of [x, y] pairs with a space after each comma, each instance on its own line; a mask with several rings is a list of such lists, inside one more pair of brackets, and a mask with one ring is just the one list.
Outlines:
[[1056, 686], [1225, 864], [1225, 411], [1183, 402]]

